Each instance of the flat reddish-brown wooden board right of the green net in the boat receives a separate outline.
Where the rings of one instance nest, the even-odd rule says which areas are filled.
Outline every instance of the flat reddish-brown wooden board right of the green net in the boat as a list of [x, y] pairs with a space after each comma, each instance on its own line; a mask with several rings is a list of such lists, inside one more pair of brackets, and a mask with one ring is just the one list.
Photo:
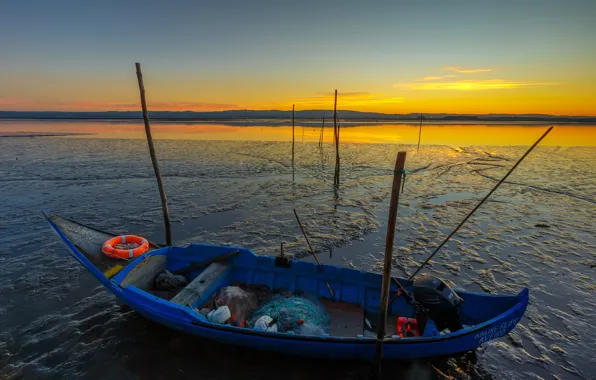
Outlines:
[[359, 305], [322, 299], [331, 325], [329, 335], [356, 337], [364, 330], [364, 310]]

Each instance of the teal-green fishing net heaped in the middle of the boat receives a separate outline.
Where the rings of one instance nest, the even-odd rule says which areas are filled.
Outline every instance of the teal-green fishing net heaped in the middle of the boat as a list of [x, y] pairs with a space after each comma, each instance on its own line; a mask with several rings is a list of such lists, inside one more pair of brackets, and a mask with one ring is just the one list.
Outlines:
[[329, 330], [330, 318], [322, 305], [304, 297], [274, 295], [254, 312], [249, 326], [254, 326], [255, 322], [265, 315], [275, 321], [277, 331], [280, 332], [321, 335]]

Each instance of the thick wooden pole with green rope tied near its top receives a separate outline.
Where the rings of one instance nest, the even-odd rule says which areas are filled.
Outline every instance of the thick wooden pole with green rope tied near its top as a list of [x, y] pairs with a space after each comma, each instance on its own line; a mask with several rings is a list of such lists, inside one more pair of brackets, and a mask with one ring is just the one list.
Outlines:
[[389, 220], [387, 221], [387, 236], [385, 238], [385, 263], [383, 266], [383, 284], [381, 287], [381, 318], [377, 331], [377, 345], [375, 357], [371, 368], [371, 378], [377, 379], [381, 373], [381, 362], [383, 359], [383, 341], [385, 340], [385, 324], [387, 323], [387, 309], [389, 301], [389, 290], [391, 285], [391, 265], [393, 256], [393, 242], [395, 240], [395, 221], [397, 219], [397, 205], [399, 204], [399, 193], [401, 180], [406, 163], [406, 152], [399, 152], [395, 161], [393, 172], [393, 185], [391, 187], [391, 203], [389, 204]]

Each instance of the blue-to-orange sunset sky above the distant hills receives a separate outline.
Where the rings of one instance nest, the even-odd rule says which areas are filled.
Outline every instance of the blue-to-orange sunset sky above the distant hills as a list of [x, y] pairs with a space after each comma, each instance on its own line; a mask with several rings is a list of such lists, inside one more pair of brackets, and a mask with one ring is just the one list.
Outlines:
[[596, 0], [0, 0], [0, 110], [596, 115]]

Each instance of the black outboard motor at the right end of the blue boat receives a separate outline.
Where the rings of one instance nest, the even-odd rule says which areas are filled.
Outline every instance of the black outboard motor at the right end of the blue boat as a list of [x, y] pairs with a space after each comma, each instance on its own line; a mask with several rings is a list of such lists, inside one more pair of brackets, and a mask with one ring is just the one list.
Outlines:
[[453, 332], [462, 328], [459, 305], [463, 299], [442, 280], [429, 275], [418, 277], [414, 281], [414, 299], [428, 311], [428, 317], [439, 331], [448, 328]]

